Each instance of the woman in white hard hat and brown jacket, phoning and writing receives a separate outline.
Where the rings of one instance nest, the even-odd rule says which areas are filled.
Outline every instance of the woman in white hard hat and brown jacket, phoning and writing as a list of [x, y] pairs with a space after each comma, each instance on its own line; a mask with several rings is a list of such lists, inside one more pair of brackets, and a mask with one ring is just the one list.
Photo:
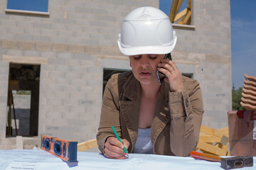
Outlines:
[[[117, 42], [129, 56], [132, 72], [112, 75], [105, 88], [97, 144], [106, 157], [126, 159], [123, 147], [176, 156], [188, 156], [196, 148], [202, 94], [197, 81], [183, 77], [174, 62], [164, 59], [176, 39], [169, 17], [157, 8], [137, 8], [124, 18]], [[157, 71], [165, 74], [161, 85]]]

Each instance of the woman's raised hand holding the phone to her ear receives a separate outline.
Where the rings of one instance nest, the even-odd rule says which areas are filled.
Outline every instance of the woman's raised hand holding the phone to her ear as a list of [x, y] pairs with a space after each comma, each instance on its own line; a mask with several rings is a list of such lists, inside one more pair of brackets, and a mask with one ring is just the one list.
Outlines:
[[161, 63], [158, 64], [158, 67], [159, 72], [166, 75], [164, 81], [169, 83], [171, 91], [180, 92], [185, 90], [181, 71], [178, 70], [173, 61], [169, 59], [161, 59]]

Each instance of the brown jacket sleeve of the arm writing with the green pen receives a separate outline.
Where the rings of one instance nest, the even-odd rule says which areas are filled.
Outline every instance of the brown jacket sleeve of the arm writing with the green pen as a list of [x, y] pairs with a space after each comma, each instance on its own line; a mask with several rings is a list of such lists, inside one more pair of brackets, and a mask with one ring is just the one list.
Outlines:
[[[114, 132], [112, 131], [111, 126], [114, 126], [114, 129], [117, 131], [117, 134], [121, 135], [121, 128], [119, 123], [119, 109], [114, 101], [115, 95], [112, 91], [114, 86], [114, 79], [117, 79], [115, 75], [112, 75], [107, 85], [105, 87], [103, 99], [102, 99], [102, 111], [100, 115], [100, 125], [97, 132], [97, 145], [100, 149], [100, 152], [104, 152], [104, 144], [107, 140], [107, 137], [114, 137]], [[118, 101], [117, 101], [118, 103]]]

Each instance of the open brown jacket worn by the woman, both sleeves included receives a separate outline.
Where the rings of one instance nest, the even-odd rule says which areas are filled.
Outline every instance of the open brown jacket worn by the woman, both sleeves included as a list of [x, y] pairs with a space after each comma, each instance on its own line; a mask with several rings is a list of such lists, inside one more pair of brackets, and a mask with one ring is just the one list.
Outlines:
[[[203, 98], [198, 81], [183, 77], [183, 92], [170, 92], [169, 84], [161, 84], [156, 100], [151, 141], [154, 154], [188, 156], [198, 144], [203, 118]], [[103, 153], [107, 137], [114, 126], [119, 137], [130, 143], [132, 152], [137, 140], [141, 86], [132, 72], [114, 74], [105, 88], [97, 144]]]

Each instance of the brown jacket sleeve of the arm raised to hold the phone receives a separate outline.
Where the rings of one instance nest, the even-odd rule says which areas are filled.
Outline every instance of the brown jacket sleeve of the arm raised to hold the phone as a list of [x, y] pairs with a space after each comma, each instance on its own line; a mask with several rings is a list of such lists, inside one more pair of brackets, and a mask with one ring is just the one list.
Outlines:
[[198, 81], [189, 84], [182, 92], [169, 92], [171, 152], [183, 157], [196, 149], [203, 118], [203, 98]]

